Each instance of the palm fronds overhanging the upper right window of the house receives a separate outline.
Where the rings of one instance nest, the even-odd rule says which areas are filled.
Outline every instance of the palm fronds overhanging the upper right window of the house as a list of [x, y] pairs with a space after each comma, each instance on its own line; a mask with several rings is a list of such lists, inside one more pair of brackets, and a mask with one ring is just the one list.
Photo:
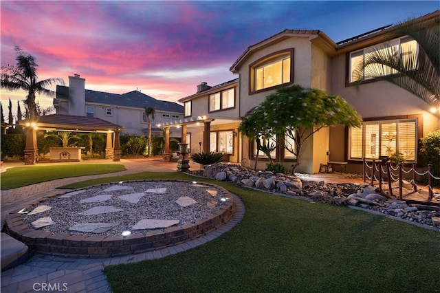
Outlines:
[[[384, 43], [366, 54], [358, 72], [365, 78], [380, 78], [406, 89], [430, 105], [440, 102], [440, 17], [433, 12], [420, 19], [409, 19], [390, 28], [388, 41], [399, 36], [410, 36], [419, 44], [419, 50]], [[361, 80], [358, 81], [358, 85]]]

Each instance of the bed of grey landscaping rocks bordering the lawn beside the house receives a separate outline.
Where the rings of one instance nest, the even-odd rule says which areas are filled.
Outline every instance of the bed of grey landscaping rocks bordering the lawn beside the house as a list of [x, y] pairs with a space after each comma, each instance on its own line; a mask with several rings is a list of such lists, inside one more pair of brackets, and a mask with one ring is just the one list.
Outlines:
[[252, 171], [238, 164], [212, 164], [203, 171], [190, 171], [192, 175], [228, 180], [234, 184], [255, 188], [268, 193], [303, 197], [314, 202], [338, 206], [356, 206], [406, 221], [433, 226], [440, 231], [440, 207], [407, 204], [369, 184], [331, 184], [325, 181], [303, 180], [300, 176]]

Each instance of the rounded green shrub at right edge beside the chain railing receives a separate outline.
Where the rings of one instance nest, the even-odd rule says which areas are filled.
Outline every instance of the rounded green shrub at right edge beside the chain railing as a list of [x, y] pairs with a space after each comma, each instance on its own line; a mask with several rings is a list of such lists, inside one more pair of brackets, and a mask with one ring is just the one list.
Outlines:
[[[422, 166], [432, 164], [432, 175], [440, 177], [440, 129], [428, 133], [420, 140], [420, 145], [419, 163]], [[423, 182], [427, 182], [426, 176], [423, 176]], [[440, 186], [440, 180], [433, 180], [433, 184]]]

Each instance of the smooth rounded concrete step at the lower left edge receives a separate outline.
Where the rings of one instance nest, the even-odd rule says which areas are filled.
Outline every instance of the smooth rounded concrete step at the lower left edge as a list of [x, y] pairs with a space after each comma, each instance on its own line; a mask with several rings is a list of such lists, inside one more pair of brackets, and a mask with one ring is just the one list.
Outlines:
[[0, 235], [1, 272], [14, 268], [30, 257], [28, 246], [6, 233]]

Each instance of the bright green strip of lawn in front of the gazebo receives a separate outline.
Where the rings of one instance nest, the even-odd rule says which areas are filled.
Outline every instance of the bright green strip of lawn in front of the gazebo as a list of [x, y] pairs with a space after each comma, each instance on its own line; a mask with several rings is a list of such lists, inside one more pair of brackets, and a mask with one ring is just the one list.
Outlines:
[[114, 173], [124, 170], [126, 169], [121, 164], [63, 164], [14, 167], [1, 173], [1, 188], [17, 188], [48, 180]]

